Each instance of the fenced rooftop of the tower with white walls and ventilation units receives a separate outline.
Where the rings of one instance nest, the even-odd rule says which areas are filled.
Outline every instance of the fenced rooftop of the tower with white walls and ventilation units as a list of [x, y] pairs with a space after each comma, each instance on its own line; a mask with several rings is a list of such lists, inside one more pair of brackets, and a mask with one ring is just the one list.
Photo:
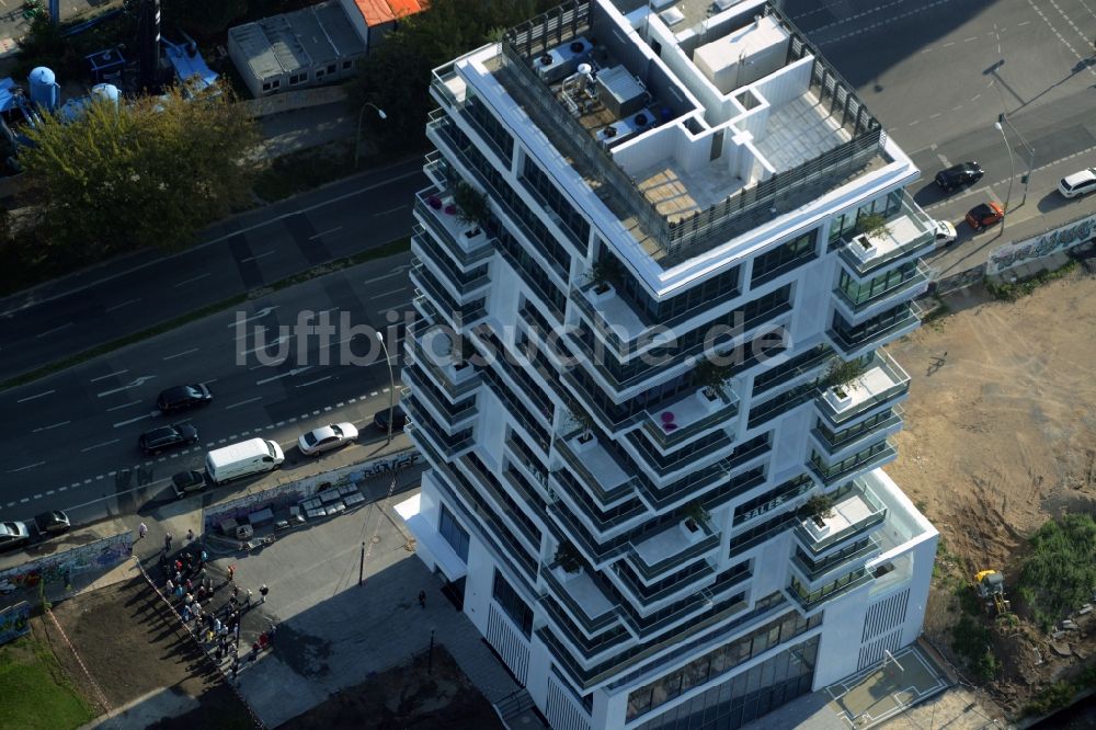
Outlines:
[[[852, 87], [779, 10], [744, 4], [680, 43], [651, 14], [646, 45], [621, 16], [570, 2], [509, 31], [486, 61], [665, 267], [886, 162], [882, 129]], [[434, 90], [460, 109], [454, 76], [439, 69]]]

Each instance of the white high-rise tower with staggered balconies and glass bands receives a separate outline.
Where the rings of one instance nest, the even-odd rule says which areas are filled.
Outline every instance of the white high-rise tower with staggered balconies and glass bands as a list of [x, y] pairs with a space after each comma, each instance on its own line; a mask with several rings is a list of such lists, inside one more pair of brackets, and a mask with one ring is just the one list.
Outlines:
[[882, 346], [934, 226], [850, 87], [760, 0], [592, 0], [432, 93], [401, 511], [551, 726], [738, 728], [914, 641]]

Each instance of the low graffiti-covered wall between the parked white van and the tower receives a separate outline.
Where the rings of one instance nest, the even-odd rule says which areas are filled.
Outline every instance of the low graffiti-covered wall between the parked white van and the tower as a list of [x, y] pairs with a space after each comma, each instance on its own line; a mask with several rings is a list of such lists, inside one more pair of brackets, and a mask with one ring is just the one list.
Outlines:
[[203, 526], [205, 532], [215, 533], [220, 523], [226, 520], [246, 522], [248, 515], [260, 510], [270, 509], [274, 512], [288, 510], [294, 504], [308, 499], [316, 492], [323, 491], [328, 487], [364, 483], [370, 479], [402, 471], [420, 463], [422, 463], [422, 457], [418, 449], [408, 448], [365, 464], [355, 464], [299, 481], [278, 484], [253, 494], [244, 494], [206, 510], [203, 516]]

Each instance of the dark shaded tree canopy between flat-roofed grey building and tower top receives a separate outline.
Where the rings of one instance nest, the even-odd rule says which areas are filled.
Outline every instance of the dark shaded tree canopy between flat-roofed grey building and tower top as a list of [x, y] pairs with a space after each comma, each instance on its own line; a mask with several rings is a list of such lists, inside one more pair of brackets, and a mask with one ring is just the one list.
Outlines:
[[430, 8], [400, 21], [399, 27], [369, 52], [349, 90], [355, 112], [365, 102], [385, 110], [387, 119], [366, 114], [372, 139], [387, 148], [422, 147], [431, 71], [501, 32], [559, 4], [558, 0], [432, 0]]

